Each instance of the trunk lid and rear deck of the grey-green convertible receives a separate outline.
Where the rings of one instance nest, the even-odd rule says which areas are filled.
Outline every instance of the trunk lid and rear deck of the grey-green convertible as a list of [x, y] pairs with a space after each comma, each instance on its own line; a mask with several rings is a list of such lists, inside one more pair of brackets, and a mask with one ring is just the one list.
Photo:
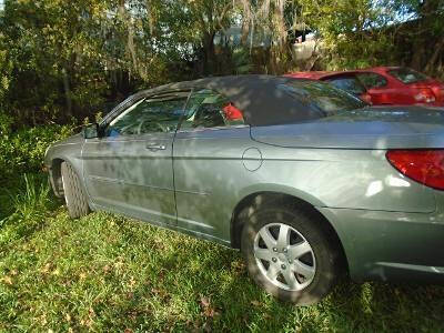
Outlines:
[[444, 109], [369, 107], [311, 122], [252, 128], [251, 137], [294, 148], [444, 148]]

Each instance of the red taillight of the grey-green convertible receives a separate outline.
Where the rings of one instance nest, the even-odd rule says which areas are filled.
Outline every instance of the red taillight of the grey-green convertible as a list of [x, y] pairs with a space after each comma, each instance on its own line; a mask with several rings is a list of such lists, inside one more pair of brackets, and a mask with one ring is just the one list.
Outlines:
[[389, 162], [406, 176], [437, 190], [444, 190], [444, 150], [390, 150]]

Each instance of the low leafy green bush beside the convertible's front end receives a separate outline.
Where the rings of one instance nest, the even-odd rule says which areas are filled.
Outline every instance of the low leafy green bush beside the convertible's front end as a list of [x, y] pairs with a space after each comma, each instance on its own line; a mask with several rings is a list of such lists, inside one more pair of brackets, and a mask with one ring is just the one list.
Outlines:
[[0, 180], [42, 169], [47, 148], [72, 134], [71, 125], [42, 125], [11, 130], [10, 119], [0, 113]]

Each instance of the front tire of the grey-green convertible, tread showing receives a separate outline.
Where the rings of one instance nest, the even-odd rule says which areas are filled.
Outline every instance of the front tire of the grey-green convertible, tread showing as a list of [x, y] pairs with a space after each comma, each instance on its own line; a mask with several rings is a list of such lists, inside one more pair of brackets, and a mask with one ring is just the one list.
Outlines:
[[79, 219], [90, 213], [87, 195], [80, 179], [72, 167], [63, 162], [61, 164], [62, 184], [64, 201], [67, 203], [69, 215], [72, 219]]

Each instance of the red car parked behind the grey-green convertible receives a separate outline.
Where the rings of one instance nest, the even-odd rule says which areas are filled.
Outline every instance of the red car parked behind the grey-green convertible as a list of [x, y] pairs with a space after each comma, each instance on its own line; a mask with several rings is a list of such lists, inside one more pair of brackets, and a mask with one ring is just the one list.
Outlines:
[[374, 105], [444, 107], [444, 83], [403, 67], [343, 72], [295, 72], [286, 77], [327, 81]]

